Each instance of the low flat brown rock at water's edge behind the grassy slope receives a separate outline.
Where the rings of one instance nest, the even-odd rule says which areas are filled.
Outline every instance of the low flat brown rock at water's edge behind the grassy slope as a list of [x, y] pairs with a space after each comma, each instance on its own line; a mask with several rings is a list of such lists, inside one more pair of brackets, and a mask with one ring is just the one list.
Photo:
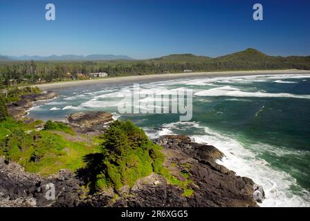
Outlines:
[[67, 117], [68, 122], [83, 131], [102, 131], [113, 121], [113, 115], [104, 111], [88, 111], [73, 113]]

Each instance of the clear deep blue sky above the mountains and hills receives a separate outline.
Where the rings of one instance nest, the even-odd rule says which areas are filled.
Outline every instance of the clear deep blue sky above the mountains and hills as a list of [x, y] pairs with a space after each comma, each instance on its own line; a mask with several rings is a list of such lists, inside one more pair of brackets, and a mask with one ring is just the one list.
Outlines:
[[[56, 20], [46, 21], [46, 3]], [[253, 4], [264, 6], [254, 21]], [[308, 0], [0, 0], [1, 55], [310, 55]]]

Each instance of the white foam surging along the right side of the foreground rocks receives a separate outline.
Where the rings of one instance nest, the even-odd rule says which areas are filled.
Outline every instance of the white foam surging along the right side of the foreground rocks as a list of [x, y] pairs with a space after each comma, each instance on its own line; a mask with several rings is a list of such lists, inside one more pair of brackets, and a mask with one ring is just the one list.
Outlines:
[[[224, 153], [225, 157], [217, 163], [235, 171], [237, 175], [250, 177], [255, 183], [263, 186], [266, 199], [259, 204], [260, 206], [310, 206], [309, 192], [304, 190], [302, 196], [295, 195], [291, 191], [291, 186], [298, 186], [295, 178], [284, 171], [271, 168], [268, 162], [257, 157], [255, 146], [245, 148], [232, 137], [212, 131], [208, 127], [199, 126], [195, 122], [163, 124], [161, 131], [153, 134], [153, 137], [174, 134], [174, 129], [186, 130], [189, 127], [200, 128], [205, 133], [205, 135], [193, 135], [192, 138], [196, 142], [211, 144]], [[257, 148], [265, 145], [267, 144], [259, 144]], [[275, 146], [273, 148], [276, 148], [276, 151], [280, 150]], [[291, 154], [290, 151], [288, 153]], [[298, 186], [298, 188], [301, 187]]]

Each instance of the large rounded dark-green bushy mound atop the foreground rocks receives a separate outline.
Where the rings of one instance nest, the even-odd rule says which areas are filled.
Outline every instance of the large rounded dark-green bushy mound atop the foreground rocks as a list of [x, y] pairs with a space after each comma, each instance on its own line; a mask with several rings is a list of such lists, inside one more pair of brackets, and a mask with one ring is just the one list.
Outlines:
[[[160, 146], [151, 142], [144, 131], [132, 122], [116, 121], [111, 123], [102, 135], [102, 160], [100, 165], [89, 161], [91, 171], [98, 173], [95, 177], [97, 190], [112, 186], [120, 189], [124, 185], [134, 186], [140, 177], [160, 171], [163, 153]], [[100, 171], [95, 169], [100, 168]]]

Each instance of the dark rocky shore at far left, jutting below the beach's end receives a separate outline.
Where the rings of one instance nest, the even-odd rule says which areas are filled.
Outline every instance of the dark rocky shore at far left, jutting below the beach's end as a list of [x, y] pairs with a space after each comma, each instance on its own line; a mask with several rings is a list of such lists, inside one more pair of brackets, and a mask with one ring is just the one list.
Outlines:
[[44, 91], [44, 93], [21, 95], [19, 100], [7, 104], [8, 113], [17, 120], [28, 120], [25, 118], [29, 108], [33, 107], [33, 102], [44, 99], [53, 99], [57, 97], [57, 94], [53, 91]]

